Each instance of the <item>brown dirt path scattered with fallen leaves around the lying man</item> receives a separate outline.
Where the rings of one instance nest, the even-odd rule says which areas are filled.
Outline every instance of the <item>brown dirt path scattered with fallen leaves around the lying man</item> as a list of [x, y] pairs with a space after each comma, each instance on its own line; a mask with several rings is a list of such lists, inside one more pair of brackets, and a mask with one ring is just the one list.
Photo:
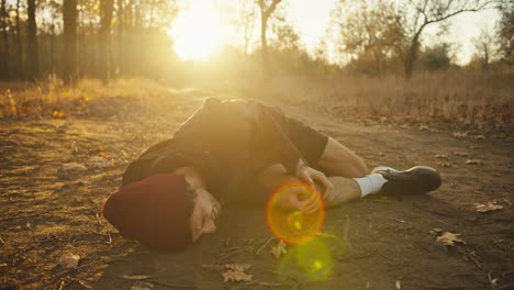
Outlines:
[[[308, 108], [284, 110], [364, 156], [369, 167], [415, 164], [442, 170], [436, 192], [398, 200], [372, 197], [327, 214], [311, 256], [328, 253], [324, 281], [299, 267], [297, 249], [277, 259], [261, 209], [228, 209], [215, 235], [180, 253], [123, 239], [100, 216], [127, 163], [167, 138], [201, 103], [169, 96], [131, 115], [2, 123], [0, 126], [0, 289], [502, 289], [514, 287], [513, 144], [459, 140], [338, 120]], [[143, 108], [143, 109], [142, 109]], [[457, 153], [457, 155], [456, 155]], [[436, 158], [435, 155], [447, 156]], [[97, 159], [92, 159], [92, 158]], [[466, 165], [480, 159], [482, 165]], [[109, 160], [94, 168], [94, 161]], [[85, 167], [63, 170], [64, 164]], [[442, 164], [450, 167], [443, 167]], [[474, 203], [502, 210], [479, 213]], [[443, 246], [434, 228], [460, 233]], [[79, 268], [57, 266], [65, 253]], [[252, 264], [250, 283], [223, 282], [224, 264]], [[150, 276], [128, 280], [122, 276]], [[512, 288], [503, 288], [512, 289]]]

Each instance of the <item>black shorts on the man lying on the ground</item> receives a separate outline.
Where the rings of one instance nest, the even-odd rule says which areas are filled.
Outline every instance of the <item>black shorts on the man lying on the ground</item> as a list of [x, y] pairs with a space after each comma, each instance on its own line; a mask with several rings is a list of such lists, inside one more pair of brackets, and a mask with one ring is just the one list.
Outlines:
[[297, 119], [284, 115], [278, 109], [276, 109], [276, 113], [283, 132], [299, 149], [309, 166], [316, 167], [328, 143], [328, 136]]

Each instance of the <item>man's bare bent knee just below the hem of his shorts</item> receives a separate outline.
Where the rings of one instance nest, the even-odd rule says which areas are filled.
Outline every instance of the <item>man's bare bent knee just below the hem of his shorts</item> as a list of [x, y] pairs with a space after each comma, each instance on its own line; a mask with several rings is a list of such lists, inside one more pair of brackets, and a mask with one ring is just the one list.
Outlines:
[[369, 174], [364, 159], [346, 146], [328, 137], [325, 150], [316, 165], [326, 176], [362, 177]]

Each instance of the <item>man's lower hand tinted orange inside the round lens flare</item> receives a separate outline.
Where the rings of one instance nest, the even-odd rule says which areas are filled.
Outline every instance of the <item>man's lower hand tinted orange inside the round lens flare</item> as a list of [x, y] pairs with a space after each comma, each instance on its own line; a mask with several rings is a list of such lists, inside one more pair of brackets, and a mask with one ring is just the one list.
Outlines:
[[312, 214], [321, 208], [320, 194], [302, 183], [279, 189], [277, 194], [277, 205], [286, 211]]

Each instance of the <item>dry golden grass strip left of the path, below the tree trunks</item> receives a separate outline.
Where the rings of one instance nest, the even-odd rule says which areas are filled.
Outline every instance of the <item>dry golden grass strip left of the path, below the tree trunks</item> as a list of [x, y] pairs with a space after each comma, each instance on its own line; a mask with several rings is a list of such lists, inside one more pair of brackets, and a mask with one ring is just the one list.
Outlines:
[[138, 102], [141, 105], [145, 98], [163, 93], [169, 93], [169, 90], [142, 79], [120, 79], [102, 85], [99, 80], [85, 78], [72, 87], [55, 77], [35, 83], [2, 82], [0, 120], [104, 115], [110, 109], [107, 102]]

